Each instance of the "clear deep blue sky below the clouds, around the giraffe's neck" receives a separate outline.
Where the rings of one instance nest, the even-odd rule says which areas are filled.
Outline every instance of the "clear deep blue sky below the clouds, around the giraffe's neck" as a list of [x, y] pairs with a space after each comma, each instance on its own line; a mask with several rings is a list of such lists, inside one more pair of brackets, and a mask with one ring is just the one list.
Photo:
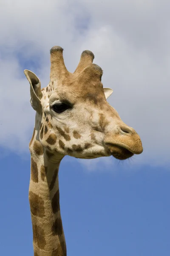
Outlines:
[[[111, 160], [114, 168], [87, 172], [77, 160], [59, 171], [62, 221], [68, 256], [168, 256], [170, 172], [137, 169]], [[2, 255], [33, 255], [28, 203], [29, 155], [1, 159]], [[10, 246], [9, 246], [10, 243]]]

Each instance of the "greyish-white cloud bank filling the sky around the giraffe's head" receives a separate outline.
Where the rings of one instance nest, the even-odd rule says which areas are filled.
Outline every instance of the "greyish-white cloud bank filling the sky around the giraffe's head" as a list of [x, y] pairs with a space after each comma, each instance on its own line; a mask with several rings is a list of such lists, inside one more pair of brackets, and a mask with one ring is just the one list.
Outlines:
[[29, 84], [16, 52], [24, 60], [40, 59], [32, 71], [44, 87], [49, 81], [49, 49], [60, 45], [70, 71], [82, 50], [94, 52], [94, 62], [104, 70], [104, 86], [114, 90], [109, 103], [142, 138], [144, 152], [136, 163], [168, 165], [169, 9], [166, 0], [1, 1], [0, 144], [28, 151], [34, 124]]

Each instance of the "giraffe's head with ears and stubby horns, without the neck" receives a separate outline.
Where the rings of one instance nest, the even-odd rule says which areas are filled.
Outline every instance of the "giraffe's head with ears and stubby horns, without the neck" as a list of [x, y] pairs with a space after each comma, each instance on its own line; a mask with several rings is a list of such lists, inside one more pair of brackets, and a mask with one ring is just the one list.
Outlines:
[[142, 142], [106, 99], [102, 69], [93, 64], [94, 54], [82, 52], [74, 73], [65, 67], [61, 47], [51, 49], [50, 83], [42, 88], [38, 77], [24, 73], [30, 83], [35, 129], [48, 151], [78, 158], [111, 156], [124, 160], [141, 154]]

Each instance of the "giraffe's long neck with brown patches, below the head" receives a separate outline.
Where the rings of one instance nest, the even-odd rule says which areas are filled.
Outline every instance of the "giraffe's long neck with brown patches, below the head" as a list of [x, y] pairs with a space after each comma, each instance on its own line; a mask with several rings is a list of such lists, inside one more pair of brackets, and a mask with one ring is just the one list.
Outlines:
[[33, 227], [34, 256], [66, 256], [65, 236], [59, 207], [59, 164], [61, 155], [52, 155], [36, 139], [30, 142], [31, 178], [29, 203]]

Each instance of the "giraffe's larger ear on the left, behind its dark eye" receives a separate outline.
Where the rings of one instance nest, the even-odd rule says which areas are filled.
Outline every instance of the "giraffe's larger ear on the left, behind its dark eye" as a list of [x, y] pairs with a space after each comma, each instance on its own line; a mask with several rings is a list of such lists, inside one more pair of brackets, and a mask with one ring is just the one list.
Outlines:
[[24, 70], [24, 74], [30, 83], [30, 102], [32, 108], [40, 113], [42, 111], [42, 105], [40, 99], [42, 98], [41, 82], [39, 78], [30, 70]]

